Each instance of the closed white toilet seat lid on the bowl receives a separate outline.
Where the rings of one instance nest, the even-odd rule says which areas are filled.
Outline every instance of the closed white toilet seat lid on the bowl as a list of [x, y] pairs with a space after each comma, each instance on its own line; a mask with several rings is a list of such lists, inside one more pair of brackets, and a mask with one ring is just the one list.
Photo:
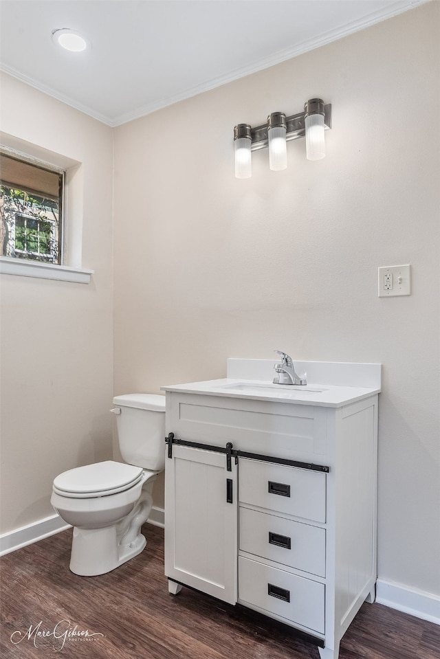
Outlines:
[[102, 497], [123, 492], [142, 478], [142, 467], [106, 460], [64, 471], [54, 480], [54, 491], [72, 498]]

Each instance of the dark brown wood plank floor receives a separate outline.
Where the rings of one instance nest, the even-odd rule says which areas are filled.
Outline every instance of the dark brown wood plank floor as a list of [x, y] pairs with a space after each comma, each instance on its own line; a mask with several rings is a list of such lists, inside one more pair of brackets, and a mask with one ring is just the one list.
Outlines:
[[[163, 530], [146, 524], [144, 533], [146, 550], [102, 577], [69, 571], [72, 530], [2, 557], [0, 656], [319, 659], [314, 645], [242, 607], [187, 588], [168, 594]], [[364, 604], [340, 659], [440, 659], [440, 627]]]

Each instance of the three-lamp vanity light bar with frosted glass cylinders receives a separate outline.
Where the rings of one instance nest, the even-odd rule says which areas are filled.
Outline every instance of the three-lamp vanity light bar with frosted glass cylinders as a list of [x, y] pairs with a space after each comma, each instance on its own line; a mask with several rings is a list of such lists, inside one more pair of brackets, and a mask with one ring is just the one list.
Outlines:
[[331, 129], [331, 104], [320, 98], [311, 98], [304, 104], [304, 112], [286, 117], [283, 112], [272, 112], [267, 123], [252, 128], [250, 124], [234, 127], [235, 176], [248, 179], [252, 175], [251, 151], [269, 147], [270, 169], [279, 171], [287, 167], [287, 142], [305, 137], [308, 160], [325, 157], [326, 129]]

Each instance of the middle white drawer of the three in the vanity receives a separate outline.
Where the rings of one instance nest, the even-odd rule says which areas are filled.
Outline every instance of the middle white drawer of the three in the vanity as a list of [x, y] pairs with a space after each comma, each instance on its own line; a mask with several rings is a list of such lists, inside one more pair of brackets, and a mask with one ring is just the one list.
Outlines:
[[240, 508], [240, 549], [325, 577], [325, 529]]

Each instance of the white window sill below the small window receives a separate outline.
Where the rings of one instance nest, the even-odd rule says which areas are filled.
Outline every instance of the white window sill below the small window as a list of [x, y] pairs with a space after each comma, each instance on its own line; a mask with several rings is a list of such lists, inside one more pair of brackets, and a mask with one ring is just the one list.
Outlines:
[[21, 277], [36, 277], [39, 279], [55, 279], [61, 282], [74, 282], [76, 284], [89, 284], [94, 270], [0, 256], [0, 273]]

